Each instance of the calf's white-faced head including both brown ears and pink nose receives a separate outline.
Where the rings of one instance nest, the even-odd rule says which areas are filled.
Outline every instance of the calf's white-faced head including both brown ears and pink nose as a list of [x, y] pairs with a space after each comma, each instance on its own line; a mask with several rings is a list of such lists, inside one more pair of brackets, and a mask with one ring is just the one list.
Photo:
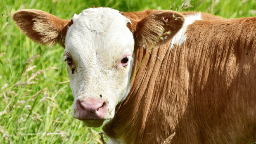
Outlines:
[[[179, 20], [171, 22], [175, 16]], [[89, 127], [99, 127], [114, 118], [116, 105], [128, 95], [134, 49], [154, 42], [164, 28], [171, 34], [162, 42], [170, 40], [184, 20], [173, 11], [151, 11], [136, 18], [102, 7], [86, 9], [71, 20], [34, 9], [19, 10], [13, 18], [32, 40], [65, 47], [73, 117]], [[134, 39], [141, 45], [136, 46]]]

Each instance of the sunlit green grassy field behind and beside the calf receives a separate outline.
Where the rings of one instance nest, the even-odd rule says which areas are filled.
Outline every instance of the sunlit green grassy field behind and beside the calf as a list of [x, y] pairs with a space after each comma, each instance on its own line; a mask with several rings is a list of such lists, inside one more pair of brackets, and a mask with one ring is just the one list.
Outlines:
[[[173, 2], [173, 10], [179, 10], [181, 0], [0, 0], [0, 144], [102, 144], [99, 128], [86, 127], [72, 116], [64, 49], [26, 38], [12, 20], [15, 11], [40, 9], [71, 19], [93, 6], [134, 12], [170, 9]], [[256, 0], [192, 0], [190, 5], [183, 11], [256, 16]]]

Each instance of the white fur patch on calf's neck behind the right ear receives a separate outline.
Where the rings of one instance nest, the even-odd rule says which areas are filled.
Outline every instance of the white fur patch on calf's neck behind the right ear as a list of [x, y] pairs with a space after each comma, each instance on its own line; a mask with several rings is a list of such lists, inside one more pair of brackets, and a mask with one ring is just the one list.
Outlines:
[[200, 12], [185, 17], [185, 21], [182, 28], [180, 29], [180, 31], [178, 31], [178, 33], [176, 33], [176, 35], [174, 35], [173, 39], [171, 40], [171, 49], [173, 49], [174, 45], [182, 45], [183, 42], [186, 41], [187, 36], [185, 35], [185, 32], [187, 30], [187, 26], [193, 24], [195, 20], [202, 20]]

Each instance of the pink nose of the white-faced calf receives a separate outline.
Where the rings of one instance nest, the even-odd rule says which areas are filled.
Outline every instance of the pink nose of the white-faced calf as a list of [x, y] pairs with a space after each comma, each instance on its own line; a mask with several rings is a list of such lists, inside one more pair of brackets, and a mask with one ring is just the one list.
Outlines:
[[79, 112], [80, 120], [86, 119], [104, 119], [107, 114], [107, 102], [95, 97], [88, 97], [83, 101], [76, 101], [76, 107]]

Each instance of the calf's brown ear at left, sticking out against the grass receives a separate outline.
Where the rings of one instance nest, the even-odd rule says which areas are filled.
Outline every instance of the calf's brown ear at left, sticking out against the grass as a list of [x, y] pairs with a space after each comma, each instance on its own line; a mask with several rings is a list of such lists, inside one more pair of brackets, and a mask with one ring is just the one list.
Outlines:
[[37, 9], [22, 9], [14, 13], [15, 24], [31, 40], [40, 44], [55, 45], [57, 42], [65, 47], [64, 40], [72, 20], [64, 20]]

